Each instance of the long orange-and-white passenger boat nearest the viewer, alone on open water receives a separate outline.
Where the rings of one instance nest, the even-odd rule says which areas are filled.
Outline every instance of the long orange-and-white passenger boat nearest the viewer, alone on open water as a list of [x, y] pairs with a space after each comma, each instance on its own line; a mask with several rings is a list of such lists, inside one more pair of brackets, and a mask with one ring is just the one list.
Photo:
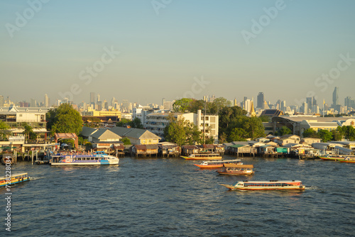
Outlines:
[[236, 182], [234, 185], [221, 184], [230, 190], [304, 190], [305, 186], [302, 185], [300, 180], [287, 180], [287, 181], [241, 181]]

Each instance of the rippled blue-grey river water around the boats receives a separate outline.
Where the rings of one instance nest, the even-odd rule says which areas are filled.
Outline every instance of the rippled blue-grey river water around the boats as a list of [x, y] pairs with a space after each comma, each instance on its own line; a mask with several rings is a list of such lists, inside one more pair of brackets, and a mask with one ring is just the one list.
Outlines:
[[[11, 188], [10, 234], [354, 236], [355, 164], [241, 160], [254, 165], [255, 175], [218, 175], [182, 158], [121, 158], [119, 166], [95, 167], [18, 162], [11, 172], [28, 172], [33, 180]], [[219, 185], [241, 180], [302, 180], [306, 189], [240, 192]], [[5, 193], [1, 187], [1, 196]], [[2, 200], [0, 236], [5, 236]]]

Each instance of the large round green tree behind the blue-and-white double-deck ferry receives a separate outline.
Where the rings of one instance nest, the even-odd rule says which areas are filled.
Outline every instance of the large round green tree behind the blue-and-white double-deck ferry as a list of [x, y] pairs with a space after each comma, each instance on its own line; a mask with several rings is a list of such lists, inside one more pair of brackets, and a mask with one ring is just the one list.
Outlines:
[[70, 104], [61, 104], [47, 113], [47, 128], [54, 133], [75, 133], [82, 131], [82, 116]]

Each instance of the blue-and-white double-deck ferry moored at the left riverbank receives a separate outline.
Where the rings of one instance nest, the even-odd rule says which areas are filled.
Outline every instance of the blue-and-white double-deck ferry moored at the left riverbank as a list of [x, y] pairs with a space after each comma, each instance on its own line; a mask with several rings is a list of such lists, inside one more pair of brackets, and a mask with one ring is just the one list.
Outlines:
[[51, 155], [50, 165], [118, 165], [119, 158], [102, 151], [94, 154], [57, 154]]

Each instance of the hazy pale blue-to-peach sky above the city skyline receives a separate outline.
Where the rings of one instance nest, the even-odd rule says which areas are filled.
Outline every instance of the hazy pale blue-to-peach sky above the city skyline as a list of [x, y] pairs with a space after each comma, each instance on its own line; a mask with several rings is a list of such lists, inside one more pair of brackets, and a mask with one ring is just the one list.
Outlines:
[[3, 0], [0, 95], [160, 104], [264, 92], [332, 104], [337, 86], [344, 104], [355, 97], [354, 10], [351, 0]]

